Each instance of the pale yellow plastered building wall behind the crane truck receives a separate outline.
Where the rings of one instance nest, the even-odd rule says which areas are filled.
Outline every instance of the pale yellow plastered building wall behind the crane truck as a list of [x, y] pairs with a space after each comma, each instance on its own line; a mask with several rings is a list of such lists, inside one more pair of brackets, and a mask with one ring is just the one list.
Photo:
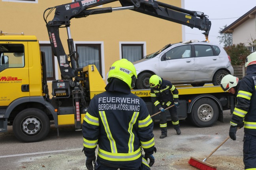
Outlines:
[[[177, 7], [183, 0], [159, 0]], [[8, 33], [24, 32], [36, 35], [39, 41], [49, 41], [43, 12], [72, 0], [38, 0], [38, 3], [6, 2], [0, 0], [0, 30]], [[102, 7], [120, 7], [119, 1]], [[52, 15], [48, 21], [53, 19]], [[104, 42], [105, 75], [111, 64], [120, 58], [120, 41], [146, 42], [146, 53], [151, 54], [168, 43], [182, 41], [182, 25], [168, 20], [152, 17], [131, 10], [113, 11], [112, 13], [90, 15], [86, 18], [71, 20], [71, 35], [74, 41]], [[68, 54], [67, 31], [60, 29], [63, 46]], [[145, 55], [147, 55], [145, 54]], [[59, 71], [58, 71], [59, 72]], [[59, 72], [60, 79], [60, 72]], [[51, 83], [49, 83], [51, 87]]]

